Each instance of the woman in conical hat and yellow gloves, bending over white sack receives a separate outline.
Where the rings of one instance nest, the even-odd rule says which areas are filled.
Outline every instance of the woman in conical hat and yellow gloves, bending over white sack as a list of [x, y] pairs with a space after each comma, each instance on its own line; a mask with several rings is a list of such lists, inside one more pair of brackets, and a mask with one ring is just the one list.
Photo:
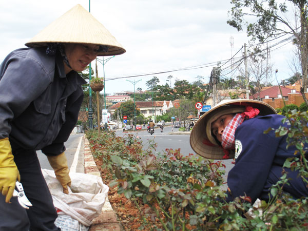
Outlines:
[[[125, 49], [80, 5], [25, 45], [0, 65], [0, 230], [59, 230], [35, 150], [45, 153], [68, 194], [64, 142], [78, 120], [86, 83], [77, 72], [97, 56]], [[12, 197], [16, 181], [28, 202]]]

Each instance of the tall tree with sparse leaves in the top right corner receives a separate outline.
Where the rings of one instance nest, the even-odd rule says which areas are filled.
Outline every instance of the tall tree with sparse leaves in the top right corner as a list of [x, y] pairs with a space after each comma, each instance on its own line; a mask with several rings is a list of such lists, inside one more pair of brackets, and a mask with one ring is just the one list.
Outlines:
[[[247, 35], [252, 41], [258, 40], [265, 43], [273, 38], [282, 35], [292, 35], [287, 39], [292, 39], [293, 44], [299, 52], [301, 64], [302, 93], [305, 103], [305, 90], [308, 86], [308, 8], [307, 0], [232, 0], [233, 7], [229, 11], [230, 26], [242, 30], [242, 25], [246, 25]], [[295, 20], [290, 20], [290, 12], [293, 10]], [[247, 22], [246, 19], [252, 22]]]

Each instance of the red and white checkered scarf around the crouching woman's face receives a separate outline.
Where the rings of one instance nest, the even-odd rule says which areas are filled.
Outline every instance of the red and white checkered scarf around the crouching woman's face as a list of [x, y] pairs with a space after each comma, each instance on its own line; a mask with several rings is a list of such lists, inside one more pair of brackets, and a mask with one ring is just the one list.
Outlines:
[[[242, 113], [237, 113], [229, 124], [224, 128], [222, 133], [222, 141], [221, 146], [225, 150], [230, 150], [235, 148], [235, 130], [241, 125], [245, 119], [251, 119], [256, 117], [259, 114], [259, 110], [257, 108], [253, 108], [252, 106], [246, 106], [246, 110]], [[228, 151], [225, 151], [225, 158], [228, 158]]]

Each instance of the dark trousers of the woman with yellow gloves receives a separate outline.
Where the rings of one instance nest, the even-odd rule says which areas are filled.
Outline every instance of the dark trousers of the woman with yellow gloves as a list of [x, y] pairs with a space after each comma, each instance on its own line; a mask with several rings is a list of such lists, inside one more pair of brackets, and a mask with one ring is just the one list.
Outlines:
[[36, 152], [16, 148], [14, 145], [12, 149], [25, 194], [33, 206], [23, 208], [16, 197], [12, 197], [12, 203], [6, 203], [5, 197], [0, 194], [0, 231], [61, 230], [54, 225], [57, 213]]

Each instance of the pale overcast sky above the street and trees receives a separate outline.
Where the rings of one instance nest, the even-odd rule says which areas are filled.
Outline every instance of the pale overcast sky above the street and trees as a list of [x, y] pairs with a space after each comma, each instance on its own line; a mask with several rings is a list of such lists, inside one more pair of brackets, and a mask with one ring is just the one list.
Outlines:
[[[0, 62], [76, 4], [89, 10], [88, 0], [1, 1]], [[133, 84], [126, 80], [142, 80], [135, 89], [146, 90], [146, 81], [153, 76], [157, 76], [162, 85], [167, 76], [172, 75], [172, 87], [175, 79], [191, 83], [198, 75], [208, 82], [217, 62], [223, 64], [235, 54], [240, 58], [244, 51], [241, 48], [244, 43], [248, 44], [245, 31], [238, 32], [226, 23], [230, 7], [228, 0], [91, 0], [91, 14], [126, 49], [126, 53], [105, 64], [106, 93], [133, 91]], [[273, 74], [279, 70], [279, 81], [290, 78], [292, 55], [291, 44], [276, 46], [271, 51]], [[98, 66], [99, 76], [103, 76], [103, 65]], [[225, 78], [235, 75], [231, 66], [230, 62], [223, 66]], [[95, 62], [92, 62], [94, 67]], [[154, 74], [183, 68], [190, 70]], [[140, 74], [149, 75], [121, 78]], [[121, 79], [108, 80], [112, 78]]]

